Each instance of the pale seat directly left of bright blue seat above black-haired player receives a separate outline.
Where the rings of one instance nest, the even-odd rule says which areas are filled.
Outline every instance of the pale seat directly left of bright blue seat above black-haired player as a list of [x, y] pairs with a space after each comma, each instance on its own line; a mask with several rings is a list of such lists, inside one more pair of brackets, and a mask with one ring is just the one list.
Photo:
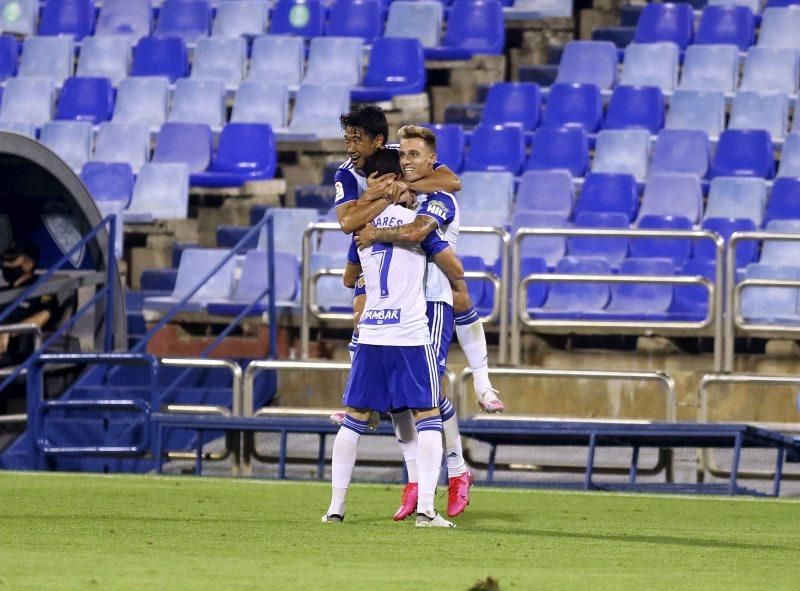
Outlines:
[[361, 39], [315, 37], [309, 44], [303, 84], [356, 86], [361, 80], [363, 51]]

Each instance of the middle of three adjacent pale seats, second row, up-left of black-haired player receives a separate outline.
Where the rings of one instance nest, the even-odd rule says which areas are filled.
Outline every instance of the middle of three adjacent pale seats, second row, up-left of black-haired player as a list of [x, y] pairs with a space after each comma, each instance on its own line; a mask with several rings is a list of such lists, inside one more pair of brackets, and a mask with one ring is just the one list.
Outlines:
[[253, 41], [248, 80], [293, 86], [303, 79], [305, 48], [298, 37], [263, 35]]

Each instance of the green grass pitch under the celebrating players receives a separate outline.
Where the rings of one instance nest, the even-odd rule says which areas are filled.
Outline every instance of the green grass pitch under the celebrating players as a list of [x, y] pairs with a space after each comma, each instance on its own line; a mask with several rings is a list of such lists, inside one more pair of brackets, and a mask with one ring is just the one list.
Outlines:
[[[0, 589], [797, 589], [796, 501], [474, 488], [455, 530], [399, 487], [0, 472]], [[437, 500], [443, 507], [445, 499]]]

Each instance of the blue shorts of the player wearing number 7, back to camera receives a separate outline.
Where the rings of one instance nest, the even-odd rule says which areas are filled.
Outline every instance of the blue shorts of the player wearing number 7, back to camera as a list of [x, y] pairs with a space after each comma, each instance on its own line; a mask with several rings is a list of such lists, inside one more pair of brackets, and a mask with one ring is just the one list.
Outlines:
[[350, 408], [378, 412], [439, 406], [433, 348], [359, 344], [342, 400]]

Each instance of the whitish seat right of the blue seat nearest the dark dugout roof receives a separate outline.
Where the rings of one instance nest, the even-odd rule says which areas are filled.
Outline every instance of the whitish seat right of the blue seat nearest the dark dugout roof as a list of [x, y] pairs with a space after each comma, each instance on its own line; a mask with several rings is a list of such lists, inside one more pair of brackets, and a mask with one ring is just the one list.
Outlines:
[[185, 164], [152, 163], [139, 170], [124, 218], [126, 222], [185, 219], [188, 209], [189, 168]]

